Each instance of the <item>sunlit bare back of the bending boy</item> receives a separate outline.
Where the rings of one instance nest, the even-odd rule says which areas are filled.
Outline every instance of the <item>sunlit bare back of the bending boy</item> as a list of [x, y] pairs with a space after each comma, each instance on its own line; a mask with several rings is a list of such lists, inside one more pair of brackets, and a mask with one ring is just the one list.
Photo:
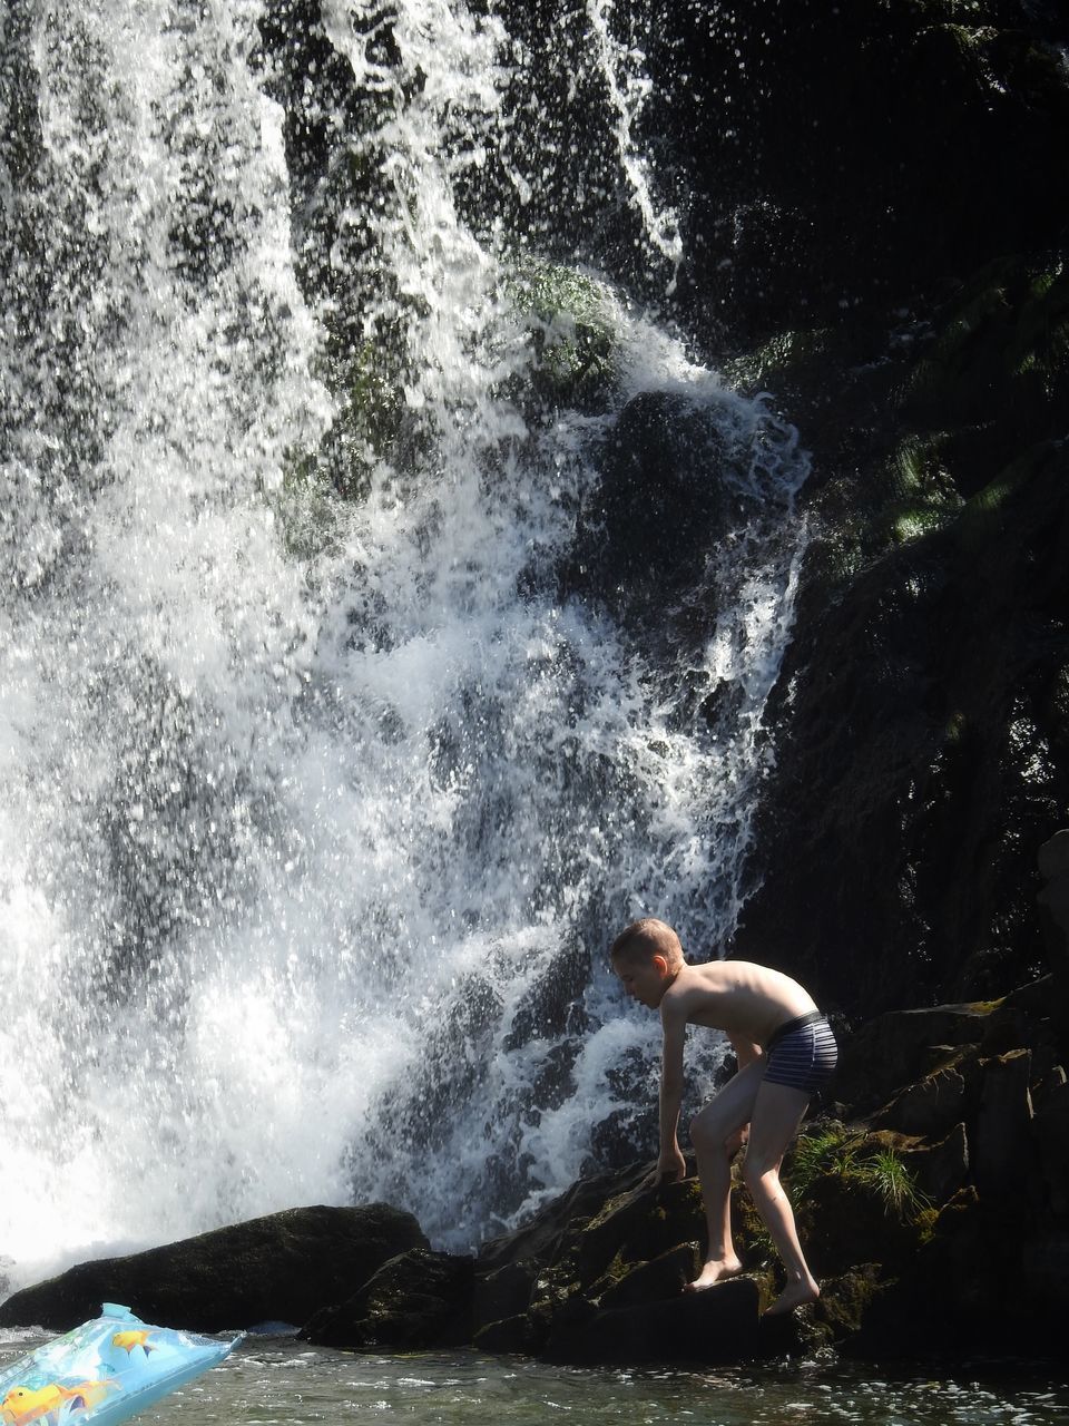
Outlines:
[[780, 1025], [814, 1010], [812, 997], [790, 975], [751, 961], [684, 964], [660, 1002], [666, 1024], [707, 1025], [754, 1045], [767, 1044]]

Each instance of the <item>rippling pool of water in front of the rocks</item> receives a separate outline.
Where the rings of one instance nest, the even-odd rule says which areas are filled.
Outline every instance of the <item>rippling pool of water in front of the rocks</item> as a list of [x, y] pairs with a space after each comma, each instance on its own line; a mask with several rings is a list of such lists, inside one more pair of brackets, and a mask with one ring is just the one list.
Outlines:
[[[0, 1339], [0, 1369], [44, 1340]], [[248, 1336], [144, 1426], [1046, 1426], [1069, 1423], [1069, 1376], [965, 1362], [954, 1375], [828, 1358], [716, 1370], [574, 1369], [476, 1352], [351, 1355]]]

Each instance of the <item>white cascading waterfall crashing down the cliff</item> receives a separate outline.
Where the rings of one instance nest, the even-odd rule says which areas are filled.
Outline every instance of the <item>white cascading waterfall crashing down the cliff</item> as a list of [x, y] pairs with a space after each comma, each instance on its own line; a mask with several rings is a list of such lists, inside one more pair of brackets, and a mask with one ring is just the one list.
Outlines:
[[[517, 1221], [647, 1142], [656, 1022], [611, 934], [650, 911], [711, 954], [745, 894], [794, 432], [589, 275], [613, 398], [530, 396], [573, 324], [526, 302], [536, 238], [456, 198], [507, 123], [503, 23], [402, 0], [385, 44], [381, 7], [331, 0], [375, 97], [345, 161], [378, 184], [335, 261], [402, 431], [331, 443], [336, 311], [294, 277], [258, 19], [78, 0], [3, 33], [11, 1286], [296, 1202], [385, 1198], [452, 1246]], [[671, 265], [633, 87], [606, 91]], [[744, 513], [686, 652], [560, 573], [640, 394], [697, 414], [698, 478]]]

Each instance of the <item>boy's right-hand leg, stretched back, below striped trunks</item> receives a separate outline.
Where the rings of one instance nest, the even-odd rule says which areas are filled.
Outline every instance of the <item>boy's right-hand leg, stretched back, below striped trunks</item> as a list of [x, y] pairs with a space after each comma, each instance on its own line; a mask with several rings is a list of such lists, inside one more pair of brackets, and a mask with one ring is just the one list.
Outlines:
[[798, 1242], [791, 1201], [780, 1182], [780, 1165], [787, 1145], [798, 1132], [810, 1095], [784, 1084], [761, 1084], [750, 1119], [750, 1144], [743, 1162], [743, 1178], [754, 1208], [771, 1233], [787, 1269], [787, 1286], [768, 1309], [768, 1315], [790, 1312], [820, 1296], [817, 1279], [810, 1272]]

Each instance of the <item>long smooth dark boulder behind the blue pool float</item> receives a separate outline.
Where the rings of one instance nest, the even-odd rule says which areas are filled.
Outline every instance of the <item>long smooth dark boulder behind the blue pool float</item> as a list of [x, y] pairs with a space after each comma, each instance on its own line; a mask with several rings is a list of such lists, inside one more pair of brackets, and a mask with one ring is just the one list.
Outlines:
[[123, 1302], [145, 1322], [225, 1332], [301, 1325], [352, 1296], [378, 1268], [428, 1242], [412, 1214], [386, 1204], [291, 1208], [125, 1258], [84, 1262], [0, 1305], [1, 1326], [64, 1332]]

